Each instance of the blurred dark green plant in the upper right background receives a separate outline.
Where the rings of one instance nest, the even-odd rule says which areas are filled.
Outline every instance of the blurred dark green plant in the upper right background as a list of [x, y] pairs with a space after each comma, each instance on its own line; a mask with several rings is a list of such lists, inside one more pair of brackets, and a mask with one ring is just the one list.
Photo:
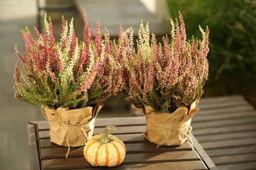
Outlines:
[[[256, 95], [256, 1], [166, 0], [171, 18], [179, 11], [188, 38], [209, 26], [209, 79], [205, 96]], [[256, 97], [253, 97], [256, 98]], [[255, 99], [256, 100], [256, 99]]]

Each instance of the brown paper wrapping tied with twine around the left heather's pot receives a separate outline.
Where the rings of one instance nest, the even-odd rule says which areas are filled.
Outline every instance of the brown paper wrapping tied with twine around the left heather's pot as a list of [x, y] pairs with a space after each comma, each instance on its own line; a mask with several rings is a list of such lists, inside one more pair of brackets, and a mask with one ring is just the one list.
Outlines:
[[50, 124], [51, 142], [68, 147], [84, 145], [93, 136], [95, 118], [102, 106], [72, 110], [42, 106], [43, 116]]

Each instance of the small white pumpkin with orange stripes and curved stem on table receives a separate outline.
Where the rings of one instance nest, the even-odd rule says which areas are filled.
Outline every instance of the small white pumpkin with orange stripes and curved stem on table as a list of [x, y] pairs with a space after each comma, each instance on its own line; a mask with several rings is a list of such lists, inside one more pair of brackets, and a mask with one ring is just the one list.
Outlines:
[[83, 155], [91, 165], [114, 167], [125, 160], [125, 144], [108, 131], [116, 126], [106, 126], [103, 134], [94, 135], [87, 141]]

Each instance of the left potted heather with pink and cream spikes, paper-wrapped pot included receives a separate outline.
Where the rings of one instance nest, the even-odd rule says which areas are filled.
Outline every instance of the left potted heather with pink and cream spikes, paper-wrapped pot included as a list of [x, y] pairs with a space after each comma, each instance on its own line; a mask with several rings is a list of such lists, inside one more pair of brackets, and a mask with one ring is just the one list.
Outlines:
[[73, 19], [62, 18], [60, 41], [53, 36], [51, 18], [45, 16], [43, 32], [35, 28], [22, 31], [26, 52], [17, 47], [14, 71], [15, 97], [19, 101], [41, 105], [50, 124], [51, 142], [61, 146], [81, 146], [93, 135], [94, 121], [102, 103], [123, 88], [121, 65], [111, 50], [110, 35], [95, 39], [84, 14], [84, 38], [78, 42]]

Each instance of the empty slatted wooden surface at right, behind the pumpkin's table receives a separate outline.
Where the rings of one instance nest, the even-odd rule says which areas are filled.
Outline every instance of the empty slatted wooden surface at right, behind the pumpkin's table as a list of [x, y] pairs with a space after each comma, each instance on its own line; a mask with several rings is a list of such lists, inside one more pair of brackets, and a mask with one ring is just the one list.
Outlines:
[[242, 95], [207, 97], [192, 133], [218, 169], [256, 169], [256, 110]]

